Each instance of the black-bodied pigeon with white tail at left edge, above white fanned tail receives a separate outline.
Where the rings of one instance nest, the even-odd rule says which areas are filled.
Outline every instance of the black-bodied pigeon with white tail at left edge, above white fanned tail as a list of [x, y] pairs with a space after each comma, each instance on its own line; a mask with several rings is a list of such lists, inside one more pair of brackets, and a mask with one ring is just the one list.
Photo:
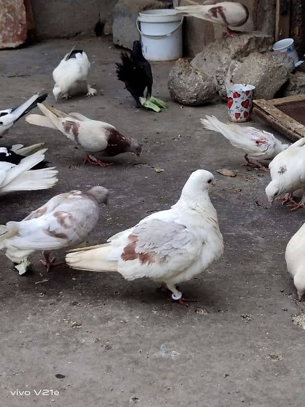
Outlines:
[[[29, 154], [33, 154], [44, 147], [44, 143], [32, 144], [32, 146], [24, 147], [23, 144], [14, 144], [10, 147], [0, 147], [0, 162], [8, 162], [18, 165], [20, 161], [27, 157]], [[42, 161], [35, 165], [32, 169], [46, 168], [47, 161]]]

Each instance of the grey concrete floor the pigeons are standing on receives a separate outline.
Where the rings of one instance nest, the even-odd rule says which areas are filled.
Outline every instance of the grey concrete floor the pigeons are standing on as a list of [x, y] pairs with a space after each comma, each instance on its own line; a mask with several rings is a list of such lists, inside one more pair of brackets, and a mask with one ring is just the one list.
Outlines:
[[[154, 92], [168, 101], [162, 113], [136, 110], [115, 78], [119, 49], [103, 38], [48, 41], [1, 51], [2, 108], [38, 91], [51, 91], [51, 73], [73, 45], [86, 50], [93, 98], [60, 101], [112, 123], [143, 142], [143, 154], [116, 157], [107, 168], [81, 165], [82, 152], [51, 129], [22, 119], [0, 145], [46, 141], [47, 159], [59, 170], [48, 191], [1, 198], [0, 223], [20, 220], [51, 196], [101, 184], [110, 203], [90, 243], [104, 242], [147, 214], [170, 207], [190, 173], [216, 175], [211, 193], [225, 240], [224, 257], [184, 283], [198, 299], [188, 309], [156, 293], [148, 279], [60, 267], [47, 274], [33, 256], [33, 272], [19, 276], [2, 253], [0, 272], [0, 405], [126, 407], [295, 406], [303, 402], [304, 330], [292, 315], [303, 311], [286, 272], [284, 250], [304, 212], [267, 207], [269, 174], [240, 167], [242, 155], [221, 136], [202, 130], [199, 118], [226, 121], [224, 104], [182, 107], [167, 90], [171, 63], [153, 64]], [[47, 100], [54, 104], [52, 94]], [[263, 123], [255, 125], [267, 129]], [[164, 169], [157, 173], [154, 167]], [[236, 178], [218, 168], [238, 171]], [[262, 201], [258, 207], [255, 201]], [[57, 253], [58, 257], [64, 253]], [[76, 324], [75, 324], [76, 323]], [[77, 326], [76, 326], [77, 325]], [[271, 355], [271, 356], [270, 356]], [[65, 375], [57, 379], [55, 374]], [[12, 395], [16, 389], [30, 395]], [[35, 395], [51, 389], [59, 395]]]

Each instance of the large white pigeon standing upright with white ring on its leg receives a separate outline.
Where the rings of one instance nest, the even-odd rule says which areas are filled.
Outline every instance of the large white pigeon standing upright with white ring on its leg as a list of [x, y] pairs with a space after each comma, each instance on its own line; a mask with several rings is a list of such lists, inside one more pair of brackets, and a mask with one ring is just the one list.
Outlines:
[[71, 250], [68, 265], [118, 272], [127, 280], [150, 277], [167, 287], [173, 300], [186, 305], [176, 284], [199, 275], [223, 253], [217, 212], [208, 195], [214, 185], [212, 173], [198, 169], [171, 209], [147, 216], [106, 244]]

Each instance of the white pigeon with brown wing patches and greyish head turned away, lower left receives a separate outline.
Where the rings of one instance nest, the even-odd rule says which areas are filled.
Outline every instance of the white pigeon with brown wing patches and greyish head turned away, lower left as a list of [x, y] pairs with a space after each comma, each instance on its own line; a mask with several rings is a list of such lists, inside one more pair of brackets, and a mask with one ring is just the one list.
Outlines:
[[107, 196], [108, 190], [100, 186], [56, 195], [20, 222], [0, 226], [0, 249], [6, 249], [20, 275], [30, 266], [28, 256], [42, 250], [41, 263], [50, 271], [63, 264], [50, 258], [51, 250], [83, 244], [97, 224], [100, 203], [106, 203]]

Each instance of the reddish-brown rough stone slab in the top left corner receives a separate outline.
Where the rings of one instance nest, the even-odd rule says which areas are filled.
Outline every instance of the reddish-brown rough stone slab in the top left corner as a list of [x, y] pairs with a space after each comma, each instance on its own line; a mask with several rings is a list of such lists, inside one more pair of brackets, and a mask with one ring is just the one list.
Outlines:
[[0, 7], [0, 48], [15, 48], [27, 36], [23, 0], [2, 0]]

